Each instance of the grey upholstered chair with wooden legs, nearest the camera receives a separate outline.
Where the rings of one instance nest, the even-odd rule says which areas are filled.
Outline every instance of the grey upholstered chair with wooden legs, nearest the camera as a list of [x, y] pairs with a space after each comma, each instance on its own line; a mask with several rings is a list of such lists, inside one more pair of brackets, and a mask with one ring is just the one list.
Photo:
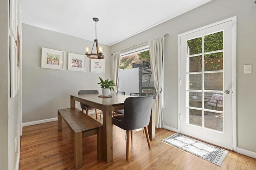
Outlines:
[[153, 96], [130, 97], [124, 101], [124, 113], [112, 117], [113, 125], [126, 130], [126, 159], [129, 159], [130, 131], [144, 128], [148, 141], [148, 148], [151, 148], [148, 136], [148, 124], [152, 109]]

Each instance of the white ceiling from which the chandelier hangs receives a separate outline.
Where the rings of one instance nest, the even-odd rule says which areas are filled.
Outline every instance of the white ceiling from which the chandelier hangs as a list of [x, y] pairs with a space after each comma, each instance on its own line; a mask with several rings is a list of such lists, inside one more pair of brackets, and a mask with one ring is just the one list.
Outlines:
[[113, 45], [211, 0], [20, 0], [22, 23]]

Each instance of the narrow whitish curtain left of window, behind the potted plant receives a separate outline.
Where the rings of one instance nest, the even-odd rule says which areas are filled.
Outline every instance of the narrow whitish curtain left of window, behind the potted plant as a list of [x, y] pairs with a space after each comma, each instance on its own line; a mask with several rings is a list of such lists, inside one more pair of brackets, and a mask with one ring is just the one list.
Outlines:
[[115, 89], [114, 93], [116, 93], [116, 91], [118, 91], [119, 60], [120, 60], [120, 51], [118, 51], [116, 53], [113, 53], [113, 72], [112, 72], [112, 76], [113, 76], [113, 81], [116, 84], [116, 86], [114, 87], [114, 89]]

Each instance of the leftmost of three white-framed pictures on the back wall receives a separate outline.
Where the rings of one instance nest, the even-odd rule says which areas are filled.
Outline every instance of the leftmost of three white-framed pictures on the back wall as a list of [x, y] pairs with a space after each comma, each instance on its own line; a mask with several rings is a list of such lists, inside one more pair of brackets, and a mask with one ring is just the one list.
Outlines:
[[42, 47], [41, 67], [64, 70], [64, 51]]

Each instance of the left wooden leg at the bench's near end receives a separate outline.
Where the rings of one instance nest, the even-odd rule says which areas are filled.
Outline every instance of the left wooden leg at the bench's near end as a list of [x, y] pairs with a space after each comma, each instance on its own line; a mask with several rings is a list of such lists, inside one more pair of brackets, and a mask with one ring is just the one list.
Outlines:
[[74, 167], [75, 169], [82, 168], [83, 164], [83, 135], [81, 130], [74, 131]]

